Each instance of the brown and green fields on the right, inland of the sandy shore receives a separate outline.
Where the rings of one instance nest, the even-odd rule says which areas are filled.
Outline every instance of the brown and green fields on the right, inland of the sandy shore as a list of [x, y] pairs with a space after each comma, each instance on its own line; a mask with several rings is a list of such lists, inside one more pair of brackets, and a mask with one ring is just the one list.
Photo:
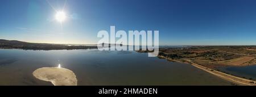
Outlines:
[[256, 64], [256, 46], [193, 46], [160, 48], [159, 56], [184, 62], [191, 60], [208, 68]]

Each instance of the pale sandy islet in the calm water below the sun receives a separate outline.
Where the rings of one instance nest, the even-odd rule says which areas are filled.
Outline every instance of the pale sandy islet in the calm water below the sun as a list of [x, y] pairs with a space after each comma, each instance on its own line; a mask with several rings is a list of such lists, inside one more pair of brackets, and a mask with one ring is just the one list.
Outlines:
[[76, 75], [69, 69], [60, 67], [40, 68], [32, 74], [40, 80], [52, 82], [54, 86], [77, 86]]

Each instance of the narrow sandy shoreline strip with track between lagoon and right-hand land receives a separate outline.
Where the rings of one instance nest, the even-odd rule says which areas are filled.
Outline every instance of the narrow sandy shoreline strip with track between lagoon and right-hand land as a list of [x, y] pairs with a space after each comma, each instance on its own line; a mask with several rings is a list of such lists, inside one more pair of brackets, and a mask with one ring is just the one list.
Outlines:
[[216, 75], [217, 77], [225, 79], [226, 81], [237, 83], [238, 85], [256, 86], [256, 81], [253, 81], [253, 80], [250, 80], [250, 79], [236, 77], [234, 75], [230, 75], [230, 74], [226, 74], [226, 73], [222, 73], [221, 71], [217, 71], [217, 70], [213, 70], [213, 69], [207, 68], [205, 66], [202, 66], [202, 65], [196, 64], [194, 62], [191, 62], [190, 60], [183, 59], [185, 62], [181, 62], [181, 61], [177, 61], [177, 60], [172, 60], [172, 59], [164, 57], [164, 56], [158, 56], [158, 57], [164, 58], [166, 60], [171, 60], [171, 61], [174, 61], [174, 62], [191, 64], [192, 66], [194, 66], [194, 67], [196, 67], [198, 69], [207, 71], [210, 74]]

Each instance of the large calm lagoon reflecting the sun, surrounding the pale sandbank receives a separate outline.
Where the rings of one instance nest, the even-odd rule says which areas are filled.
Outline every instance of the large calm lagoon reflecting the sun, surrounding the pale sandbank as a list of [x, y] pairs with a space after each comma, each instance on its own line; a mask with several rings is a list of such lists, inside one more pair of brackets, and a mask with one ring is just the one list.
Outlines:
[[43, 67], [72, 70], [78, 85], [231, 85], [189, 64], [134, 51], [0, 49], [0, 85], [52, 85], [33, 77]]

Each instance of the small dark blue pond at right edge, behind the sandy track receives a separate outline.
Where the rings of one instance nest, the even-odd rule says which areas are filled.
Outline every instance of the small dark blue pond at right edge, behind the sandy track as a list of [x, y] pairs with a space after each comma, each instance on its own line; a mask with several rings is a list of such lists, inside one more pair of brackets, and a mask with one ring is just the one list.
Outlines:
[[238, 77], [256, 80], [256, 65], [251, 66], [230, 66], [220, 68], [221, 71], [236, 75]]

